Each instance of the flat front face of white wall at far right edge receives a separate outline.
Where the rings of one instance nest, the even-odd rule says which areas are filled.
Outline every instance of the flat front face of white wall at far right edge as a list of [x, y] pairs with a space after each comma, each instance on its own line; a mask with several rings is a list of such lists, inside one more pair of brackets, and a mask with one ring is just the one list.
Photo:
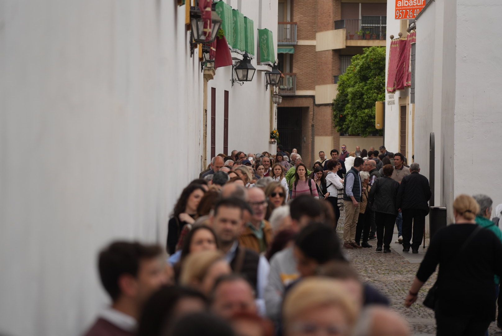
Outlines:
[[456, 65], [454, 193], [455, 196], [483, 193], [497, 205], [502, 203], [502, 158], [497, 152], [502, 144], [502, 35], [490, 32], [499, 30], [502, 3], [457, 0], [453, 18], [456, 24], [456, 53], [451, 54]]

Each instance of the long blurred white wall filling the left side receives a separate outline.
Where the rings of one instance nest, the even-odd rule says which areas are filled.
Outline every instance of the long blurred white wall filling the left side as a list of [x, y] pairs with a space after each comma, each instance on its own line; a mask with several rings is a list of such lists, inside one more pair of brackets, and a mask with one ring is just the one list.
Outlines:
[[0, 3], [0, 332], [80, 334], [108, 302], [97, 251], [165, 241], [202, 155], [184, 16], [173, 1]]

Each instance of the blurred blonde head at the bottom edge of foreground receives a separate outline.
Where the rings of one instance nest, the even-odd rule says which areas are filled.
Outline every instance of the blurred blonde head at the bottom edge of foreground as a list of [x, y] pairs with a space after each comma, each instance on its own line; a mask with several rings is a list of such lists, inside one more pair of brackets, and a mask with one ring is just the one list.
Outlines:
[[286, 295], [283, 306], [286, 336], [351, 335], [358, 305], [340, 281], [308, 278]]

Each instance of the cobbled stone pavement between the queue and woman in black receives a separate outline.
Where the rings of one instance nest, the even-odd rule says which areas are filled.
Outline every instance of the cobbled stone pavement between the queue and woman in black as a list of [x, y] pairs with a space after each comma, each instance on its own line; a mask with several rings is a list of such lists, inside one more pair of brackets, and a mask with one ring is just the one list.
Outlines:
[[[340, 235], [341, 240], [343, 240], [344, 219], [342, 211], [337, 227], [337, 233]], [[417, 301], [410, 308], [405, 307], [404, 300], [427, 248], [423, 248], [422, 245], [418, 254], [412, 254], [411, 251], [410, 253], [404, 253], [402, 245], [394, 243], [397, 239], [398, 231], [397, 227], [395, 227], [394, 238], [391, 243], [392, 253], [376, 252], [376, 239], [369, 241], [369, 244], [373, 245], [372, 248], [343, 249], [343, 251], [359, 273], [361, 280], [387, 295], [392, 308], [408, 320], [413, 329], [413, 335], [435, 335], [436, 320], [434, 311], [425, 307], [422, 302], [428, 290], [436, 281], [437, 272], [424, 284]], [[496, 326], [495, 322], [491, 323], [488, 333], [489, 335], [502, 335], [502, 331]]]

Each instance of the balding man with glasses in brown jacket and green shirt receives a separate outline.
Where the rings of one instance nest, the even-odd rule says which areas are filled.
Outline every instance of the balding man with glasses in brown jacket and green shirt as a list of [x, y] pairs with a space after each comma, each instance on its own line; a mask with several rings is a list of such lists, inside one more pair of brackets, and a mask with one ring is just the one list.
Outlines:
[[267, 197], [262, 189], [254, 187], [249, 189], [247, 198], [253, 214], [251, 221], [244, 225], [239, 236], [239, 244], [260, 254], [267, 251], [273, 239], [272, 227], [265, 220]]

